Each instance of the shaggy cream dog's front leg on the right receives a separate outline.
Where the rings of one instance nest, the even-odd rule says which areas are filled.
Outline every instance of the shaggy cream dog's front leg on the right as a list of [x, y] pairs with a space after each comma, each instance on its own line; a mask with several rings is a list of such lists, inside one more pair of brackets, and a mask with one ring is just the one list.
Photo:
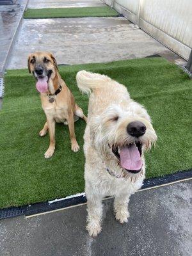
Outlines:
[[114, 200], [115, 218], [120, 223], [125, 223], [129, 218], [128, 203], [130, 195], [118, 195]]

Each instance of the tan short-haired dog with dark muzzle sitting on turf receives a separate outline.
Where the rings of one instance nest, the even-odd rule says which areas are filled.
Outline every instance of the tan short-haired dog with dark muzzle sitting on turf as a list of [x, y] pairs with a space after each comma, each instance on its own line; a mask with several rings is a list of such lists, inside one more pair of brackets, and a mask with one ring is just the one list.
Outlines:
[[86, 122], [83, 110], [79, 108], [74, 96], [61, 79], [54, 56], [49, 52], [34, 52], [28, 58], [29, 73], [33, 73], [37, 83], [36, 89], [40, 92], [42, 108], [44, 109], [47, 122], [40, 131], [40, 136], [45, 136], [49, 130], [50, 144], [45, 152], [45, 158], [52, 157], [55, 149], [55, 123], [68, 124], [70, 132], [71, 149], [79, 150], [74, 131], [74, 120], [79, 117]]

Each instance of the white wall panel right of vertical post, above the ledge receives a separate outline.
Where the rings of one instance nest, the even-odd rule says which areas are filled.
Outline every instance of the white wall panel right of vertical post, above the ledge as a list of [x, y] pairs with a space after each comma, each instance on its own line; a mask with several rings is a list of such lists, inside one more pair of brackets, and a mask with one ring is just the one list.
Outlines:
[[192, 47], [192, 0], [145, 0], [141, 19]]

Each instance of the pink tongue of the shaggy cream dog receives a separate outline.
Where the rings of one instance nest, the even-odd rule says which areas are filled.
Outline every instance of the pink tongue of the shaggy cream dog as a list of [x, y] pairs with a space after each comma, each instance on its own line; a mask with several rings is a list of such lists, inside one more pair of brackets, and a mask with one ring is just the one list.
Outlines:
[[120, 148], [120, 164], [122, 168], [127, 170], [136, 171], [141, 169], [142, 160], [136, 145], [132, 144], [128, 147]]

